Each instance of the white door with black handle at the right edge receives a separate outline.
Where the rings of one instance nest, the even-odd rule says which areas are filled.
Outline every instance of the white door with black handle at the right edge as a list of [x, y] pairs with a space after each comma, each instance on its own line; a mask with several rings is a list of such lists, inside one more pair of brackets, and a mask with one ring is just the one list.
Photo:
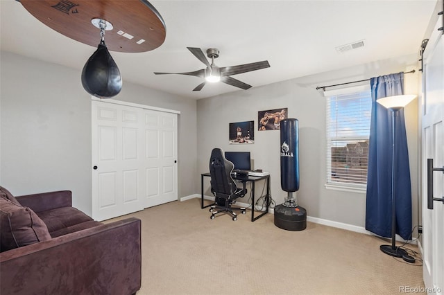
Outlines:
[[[433, 159], [434, 168], [444, 167], [444, 37], [438, 30], [442, 17], [422, 55], [422, 276], [429, 294], [444, 294], [444, 202], [427, 199], [427, 181], [432, 179], [433, 197], [444, 197], [444, 173], [437, 170], [427, 177], [427, 159]], [[431, 204], [433, 209], [427, 208]]]

